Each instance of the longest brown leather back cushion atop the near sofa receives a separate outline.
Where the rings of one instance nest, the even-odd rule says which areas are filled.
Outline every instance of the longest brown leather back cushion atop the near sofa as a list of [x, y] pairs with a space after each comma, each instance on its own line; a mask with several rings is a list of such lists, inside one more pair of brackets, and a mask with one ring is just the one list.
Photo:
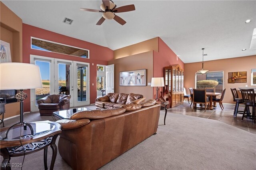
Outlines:
[[100, 109], [91, 111], [80, 111], [70, 117], [70, 119], [103, 119], [106, 117], [112, 117], [120, 115], [125, 112], [124, 108], [113, 108], [113, 109]]

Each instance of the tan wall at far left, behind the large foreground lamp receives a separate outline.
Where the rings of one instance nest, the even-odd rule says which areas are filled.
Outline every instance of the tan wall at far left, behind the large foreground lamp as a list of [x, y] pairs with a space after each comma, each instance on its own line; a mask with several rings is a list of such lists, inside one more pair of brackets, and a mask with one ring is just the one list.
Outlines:
[[[22, 20], [0, 2], [0, 39], [10, 43], [12, 62], [22, 62]], [[4, 118], [20, 114], [20, 103], [5, 105]]]

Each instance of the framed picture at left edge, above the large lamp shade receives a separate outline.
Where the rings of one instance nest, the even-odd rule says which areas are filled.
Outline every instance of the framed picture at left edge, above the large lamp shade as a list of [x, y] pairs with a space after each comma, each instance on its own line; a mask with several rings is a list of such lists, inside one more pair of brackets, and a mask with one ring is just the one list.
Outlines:
[[0, 42], [0, 63], [12, 62], [10, 43]]

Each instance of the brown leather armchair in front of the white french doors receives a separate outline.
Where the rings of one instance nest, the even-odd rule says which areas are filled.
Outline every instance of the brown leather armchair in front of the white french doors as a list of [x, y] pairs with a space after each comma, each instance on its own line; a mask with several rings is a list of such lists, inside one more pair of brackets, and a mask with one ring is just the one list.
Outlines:
[[39, 113], [41, 116], [51, 116], [53, 112], [70, 109], [71, 95], [48, 95], [38, 99]]

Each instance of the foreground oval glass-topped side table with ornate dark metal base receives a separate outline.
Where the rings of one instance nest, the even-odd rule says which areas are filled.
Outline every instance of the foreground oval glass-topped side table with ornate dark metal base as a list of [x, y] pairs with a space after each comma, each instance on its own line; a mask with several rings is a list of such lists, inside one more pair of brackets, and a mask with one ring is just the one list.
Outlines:
[[[23, 156], [24, 154], [31, 154], [44, 149], [44, 168], [47, 167], [47, 148], [52, 148], [52, 160], [50, 170], [53, 170], [55, 159], [57, 156], [57, 146], [55, 144], [56, 138], [60, 134], [60, 124], [50, 121], [40, 121], [30, 123], [34, 130], [34, 135], [30, 130], [24, 130], [23, 125], [13, 127], [9, 132], [6, 139], [6, 131], [8, 128], [1, 129], [0, 132], [0, 154], [3, 156], [1, 170], [10, 170], [11, 157]], [[21, 133], [21, 139], [20, 139]], [[25, 153], [24, 153], [25, 150]], [[22, 163], [17, 164], [22, 167]]]

